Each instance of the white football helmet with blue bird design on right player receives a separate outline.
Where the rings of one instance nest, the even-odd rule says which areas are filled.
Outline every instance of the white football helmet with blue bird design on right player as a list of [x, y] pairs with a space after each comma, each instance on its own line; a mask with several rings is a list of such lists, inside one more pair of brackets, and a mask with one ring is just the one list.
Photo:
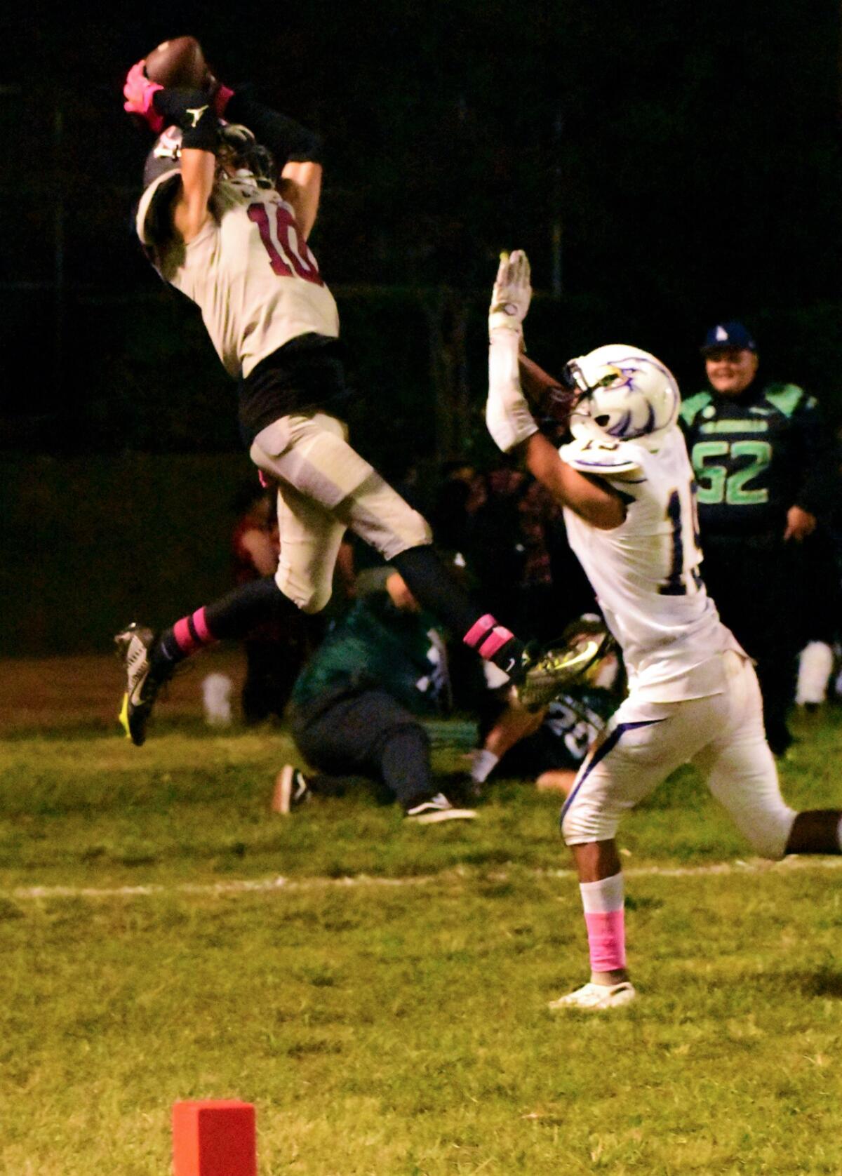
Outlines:
[[660, 440], [679, 419], [675, 376], [639, 347], [597, 347], [570, 360], [564, 381], [577, 394], [570, 433], [580, 440], [647, 443]]

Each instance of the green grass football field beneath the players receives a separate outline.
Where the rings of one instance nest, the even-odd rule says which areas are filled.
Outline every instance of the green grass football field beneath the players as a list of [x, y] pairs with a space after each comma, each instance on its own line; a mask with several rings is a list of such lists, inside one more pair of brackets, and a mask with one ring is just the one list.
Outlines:
[[[255, 1103], [260, 1176], [842, 1171], [842, 858], [749, 858], [677, 774], [621, 840], [640, 1001], [554, 1016], [587, 970], [555, 800], [273, 816], [283, 731], [210, 734], [194, 680], [133, 748], [113, 664], [65, 667], [0, 675], [2, 1176], [165, 1176], [191, 1097]], [[797, 733], [787, 796], [841, 802], [842, 716]]]

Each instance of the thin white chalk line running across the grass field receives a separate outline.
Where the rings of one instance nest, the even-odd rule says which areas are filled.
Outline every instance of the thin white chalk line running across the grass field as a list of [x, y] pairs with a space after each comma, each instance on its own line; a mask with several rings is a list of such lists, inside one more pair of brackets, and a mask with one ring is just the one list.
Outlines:
[[[714, 862], [707, 866], [640, 866], [627, 867], [627, 877], [708, 877], [715, 875], [737, 874], [762, 874], [768, 871], [791, 873], [793, 870], [837, 870], [842, 869], [842, 857], [787, 857], [781, 862], [769, 862], [763, 858], [749, 858], [748, 861]], [[528, 870], [533, 877], [575, 877], [573, 870]], [[485, 875], [485, 878], [501, 882], [508, 878], [504, 870], [495, 870]], [[226, 882], [173, 882], [156, 883], [148, 886], [116, 886], [116, 887], [89, 887], [89, 886], [29, 886], [14, 887], [9, 890], [0, 890], [0, 898], [24, 900], [24, 898], [122, 898], [122, 897], [147, 897], [154, 895], [185, 894], [185, 895], [214, 895], [214, 894], [260, 894], [267, 890], [326, 890], [326, 889], [350, 889], [353, 887], [414, 887], [429, 886], [430, 882], [463, 881], [470, 877], [481, 877], [474, 871], [447, 870], [442, 874], [423, 874], [405, 878], [372, 877], [367, 874], [356, 874], [353, 877], [343, 878], [288, 878], [282, 876], [268, 878], [230, 878]]]

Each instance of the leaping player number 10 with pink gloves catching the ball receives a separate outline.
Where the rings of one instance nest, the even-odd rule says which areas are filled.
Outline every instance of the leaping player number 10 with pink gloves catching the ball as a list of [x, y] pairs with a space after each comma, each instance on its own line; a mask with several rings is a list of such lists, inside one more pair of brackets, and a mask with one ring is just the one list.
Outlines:
[[321, 188], [319, 139], [247, 91], [208, 79], [203, 89], [162, 88], [142, 61], [126, 79], [125, 109], [160, 132], [136, 229], [161, 278], [200, 307], [239, 381], [252, 461], [279, 487], [280, 559], [274, 576], [161, 634], [136, 623], [118, 634], [127, 735], [143, 742], [159, 689], [185, 657], [240, 639], [279, 609], [320, 612], [346, 528], [376, 548], [454, 635], [508, 673], [527, 704], [548, 701], [554, 659], [528, 653], [468, 600], [433, 554], [427, 522], [348, 445], [336, 416], [348, 395], [339, 316], [307, 245]]

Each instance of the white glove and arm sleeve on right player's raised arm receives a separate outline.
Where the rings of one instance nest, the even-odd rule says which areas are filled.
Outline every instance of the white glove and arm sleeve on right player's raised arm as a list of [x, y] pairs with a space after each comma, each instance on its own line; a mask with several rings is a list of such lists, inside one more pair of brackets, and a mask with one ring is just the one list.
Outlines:
[[523, 319], [529, 309], [530, 298], [529, 261], [526, 253], [515, 249], [512, 256], [501, 254], [488, 313], [486, 425], [503, 453], [537, 433], [537, 425], [521, 390], [517, 362]]

